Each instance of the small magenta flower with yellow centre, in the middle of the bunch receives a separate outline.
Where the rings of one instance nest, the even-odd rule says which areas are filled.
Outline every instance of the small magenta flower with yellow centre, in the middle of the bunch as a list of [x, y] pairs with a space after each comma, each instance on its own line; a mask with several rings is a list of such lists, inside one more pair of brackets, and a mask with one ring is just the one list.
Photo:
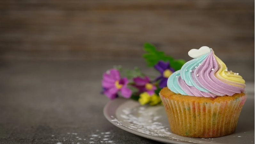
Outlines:
[[149, 95], [155, 93], [156, 86], [150, 83], [150, 79], [148, 78], [148, 76], [145, 76], [144, 78], [135, 77], [133, 78], [133, 81], [135, 84], [133, 84], [132, 86], [138, 88], [139, 93], [148, 92]]

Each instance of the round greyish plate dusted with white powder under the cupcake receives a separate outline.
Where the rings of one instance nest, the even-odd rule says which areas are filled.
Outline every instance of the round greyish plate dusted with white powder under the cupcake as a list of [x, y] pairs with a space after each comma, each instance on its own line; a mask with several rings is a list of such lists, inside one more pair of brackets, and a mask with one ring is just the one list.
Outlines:
[[117, 127], [141, 137], [172, 144], [249, 144], [254, 143], [254, 93], [249, 93], [236, 131], [219, 138], [189, 138], [169, 129], [164, 106], [140, 106], [137, 101], [118, 98], [108, 102], [104, 116]]

